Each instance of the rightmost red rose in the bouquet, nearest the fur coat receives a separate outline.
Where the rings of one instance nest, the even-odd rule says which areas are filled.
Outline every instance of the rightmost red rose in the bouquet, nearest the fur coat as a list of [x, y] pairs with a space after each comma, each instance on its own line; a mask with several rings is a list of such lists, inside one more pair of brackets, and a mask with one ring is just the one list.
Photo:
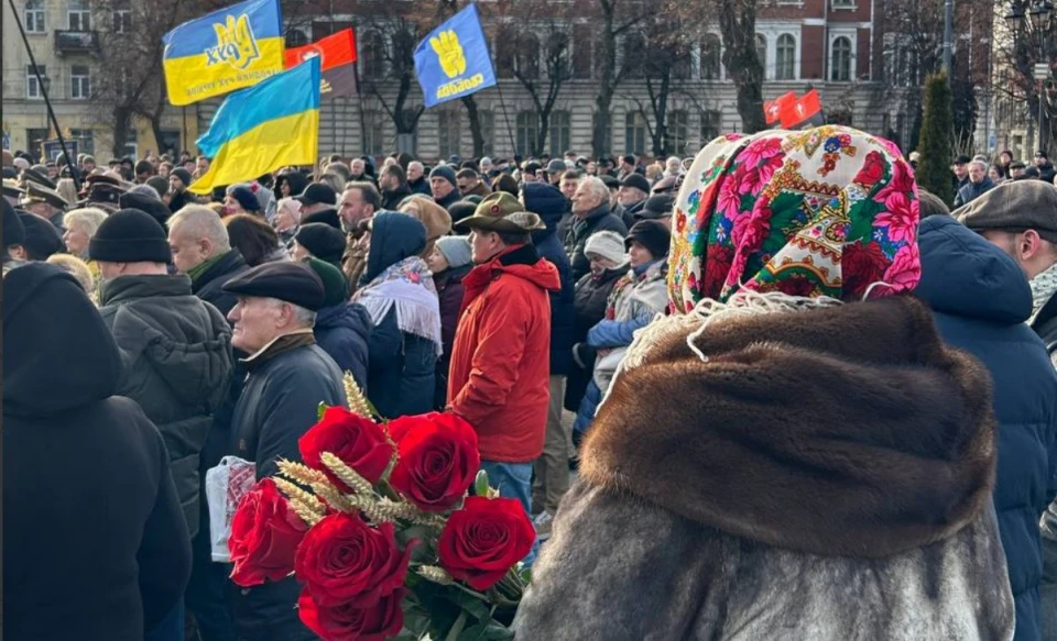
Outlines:
[[532, 551], [536, 531], [512, 498], [467, 497], [437, 540], [440, 565], [473, 589], [488, 589]]

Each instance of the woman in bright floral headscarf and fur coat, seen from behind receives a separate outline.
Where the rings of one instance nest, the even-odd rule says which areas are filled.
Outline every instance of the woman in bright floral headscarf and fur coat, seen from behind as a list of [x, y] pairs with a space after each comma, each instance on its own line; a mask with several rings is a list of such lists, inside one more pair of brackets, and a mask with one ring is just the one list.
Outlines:
[[913, 174], [854, 130], [718, 139], [533, 567], [525, 639], [1009, 640], [987, 371], [920, 301]]

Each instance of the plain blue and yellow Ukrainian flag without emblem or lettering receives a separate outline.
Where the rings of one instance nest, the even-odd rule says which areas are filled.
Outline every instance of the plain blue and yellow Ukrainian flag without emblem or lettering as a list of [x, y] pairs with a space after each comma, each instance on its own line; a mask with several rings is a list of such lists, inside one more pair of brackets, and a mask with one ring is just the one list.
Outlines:
[[188, 189], [253, 180], [286, 165], [313, 165], [319, 150], [319, 57], [228, 96], [198, 150], [213, 158]]

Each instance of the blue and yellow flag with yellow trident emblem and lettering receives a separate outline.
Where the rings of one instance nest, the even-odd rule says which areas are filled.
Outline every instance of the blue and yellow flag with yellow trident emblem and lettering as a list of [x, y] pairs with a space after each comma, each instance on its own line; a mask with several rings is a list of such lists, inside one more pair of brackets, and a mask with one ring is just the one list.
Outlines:
[[185, 22], [162, 36], [168, 100], [190, 104], [257, 85], [283, 70], [279, 0], [248, 0]]

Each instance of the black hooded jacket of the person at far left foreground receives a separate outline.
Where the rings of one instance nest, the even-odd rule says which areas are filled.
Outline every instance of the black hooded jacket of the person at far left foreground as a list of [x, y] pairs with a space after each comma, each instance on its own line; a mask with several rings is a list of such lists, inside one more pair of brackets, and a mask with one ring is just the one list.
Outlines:
[[54, 265], [3, 279], [3, 632], [141, 641], [179, 603], [190, 541], [161, 434], [115, 396], [121, 354]]

